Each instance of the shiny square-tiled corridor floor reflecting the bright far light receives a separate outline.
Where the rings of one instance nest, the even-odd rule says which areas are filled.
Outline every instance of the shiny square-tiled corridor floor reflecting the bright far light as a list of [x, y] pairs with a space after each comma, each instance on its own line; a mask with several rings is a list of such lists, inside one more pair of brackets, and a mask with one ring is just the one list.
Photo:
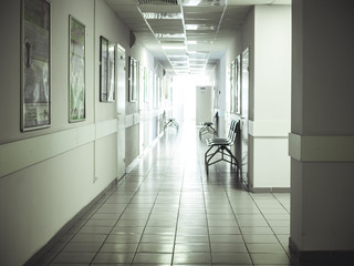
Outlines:
[[290, 195], [251, 194], [221, 162], [206, 176], [194, 126], [166, 135], [40, 265], [291, 265]]

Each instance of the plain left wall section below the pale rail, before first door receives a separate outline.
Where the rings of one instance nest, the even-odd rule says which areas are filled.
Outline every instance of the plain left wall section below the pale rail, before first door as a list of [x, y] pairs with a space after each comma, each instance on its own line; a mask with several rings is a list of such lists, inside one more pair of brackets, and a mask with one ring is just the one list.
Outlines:
[[116, 178], [115, 146], [111, 134], [0, 178], [0, 265], [25, 263]]

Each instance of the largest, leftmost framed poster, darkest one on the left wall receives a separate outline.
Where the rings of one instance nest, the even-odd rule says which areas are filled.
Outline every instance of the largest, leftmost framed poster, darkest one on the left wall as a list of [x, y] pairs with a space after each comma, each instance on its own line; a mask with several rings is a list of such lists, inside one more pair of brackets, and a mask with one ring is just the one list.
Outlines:
[[51, 4], [21, 1], [21, 131], [51, 124]]

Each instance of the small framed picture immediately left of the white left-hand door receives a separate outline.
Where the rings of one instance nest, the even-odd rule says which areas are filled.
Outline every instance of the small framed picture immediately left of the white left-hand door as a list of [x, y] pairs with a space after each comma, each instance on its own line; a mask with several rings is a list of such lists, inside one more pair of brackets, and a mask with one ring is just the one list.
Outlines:
[[115, 44], [100, 38], [100, 101], [115, 100]]

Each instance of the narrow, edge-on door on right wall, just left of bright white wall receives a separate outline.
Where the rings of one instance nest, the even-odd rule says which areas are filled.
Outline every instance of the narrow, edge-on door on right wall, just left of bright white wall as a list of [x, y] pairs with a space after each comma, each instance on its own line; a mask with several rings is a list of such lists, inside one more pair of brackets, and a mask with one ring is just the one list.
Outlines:
[[242, 129], [241, 129], [241, 161], [242, 161], [242, 180], [248, 186], [248, 110], [249, 110], [249, 49], [247, 48], [242, 52], [241, 57], [241, 121], [242, 121]]

